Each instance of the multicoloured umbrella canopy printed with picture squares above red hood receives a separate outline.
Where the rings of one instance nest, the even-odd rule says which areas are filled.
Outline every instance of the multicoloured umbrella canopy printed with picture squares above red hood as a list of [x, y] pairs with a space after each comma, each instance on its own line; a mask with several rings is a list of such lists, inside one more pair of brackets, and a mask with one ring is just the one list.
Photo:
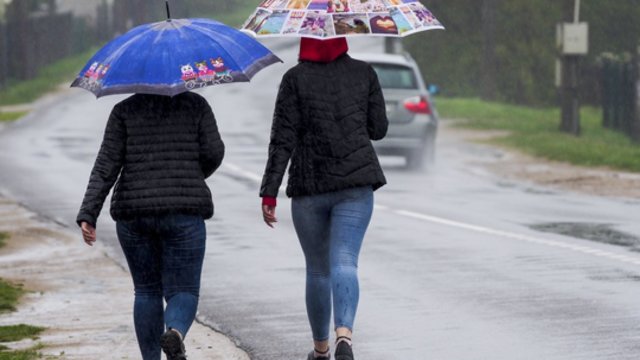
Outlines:
[[444, 29], [418, 0], [263, 0], [242, 28], [255, 36], [318, 39]]

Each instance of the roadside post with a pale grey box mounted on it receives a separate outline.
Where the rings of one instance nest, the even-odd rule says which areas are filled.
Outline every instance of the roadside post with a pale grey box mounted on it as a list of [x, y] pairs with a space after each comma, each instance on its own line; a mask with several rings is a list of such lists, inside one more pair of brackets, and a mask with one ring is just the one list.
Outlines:
[[561, 56], [556, 65], [556, 85], [561, 88], [560, 130], [580, 135], [580, 60], [589, 53], [589, 25], [580, 22], [580, 0], [575, 0], [573, 22], [557, 26], [557, 45]]

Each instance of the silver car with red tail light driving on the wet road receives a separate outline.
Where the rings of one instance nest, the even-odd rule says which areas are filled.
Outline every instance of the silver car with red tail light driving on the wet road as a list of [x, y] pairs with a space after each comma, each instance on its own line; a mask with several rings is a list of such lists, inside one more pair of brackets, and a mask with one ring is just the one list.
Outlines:
[[374, 143], [379, 155], [403, 156], [417, 169], [435, 159], [438, 112], [410, 55], [352, 54], [378, 74], [389, 118], [387, 137]]

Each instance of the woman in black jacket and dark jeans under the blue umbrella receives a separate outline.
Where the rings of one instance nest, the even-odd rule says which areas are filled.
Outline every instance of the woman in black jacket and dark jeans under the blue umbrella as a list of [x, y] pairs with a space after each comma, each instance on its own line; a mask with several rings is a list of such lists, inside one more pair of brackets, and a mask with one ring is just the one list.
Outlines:
[[133, 278], [144, 360], [160, 360], [161, 349], [169, 360], [186, 359], [183, 338], [198, 307], [204, 219], [213, 216], [205, 179], [223, 157], [213, 111], [194, 93], [136, 94], [109, 117], [77, 222], [93, 245], [98, 215], [116, 184], [111, 216]]

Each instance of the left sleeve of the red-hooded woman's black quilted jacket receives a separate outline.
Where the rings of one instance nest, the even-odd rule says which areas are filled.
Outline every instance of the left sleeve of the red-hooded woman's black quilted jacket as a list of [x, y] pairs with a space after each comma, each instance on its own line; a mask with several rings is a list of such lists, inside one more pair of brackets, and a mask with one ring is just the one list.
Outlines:
[[261, 197], [277, 197], [289, 159], [297, 144], [297, 128], [300, 122], [298, 95], [290, 74], [280, 84], [276, 108], [271, 126], [269, 159], [262, 178]]

